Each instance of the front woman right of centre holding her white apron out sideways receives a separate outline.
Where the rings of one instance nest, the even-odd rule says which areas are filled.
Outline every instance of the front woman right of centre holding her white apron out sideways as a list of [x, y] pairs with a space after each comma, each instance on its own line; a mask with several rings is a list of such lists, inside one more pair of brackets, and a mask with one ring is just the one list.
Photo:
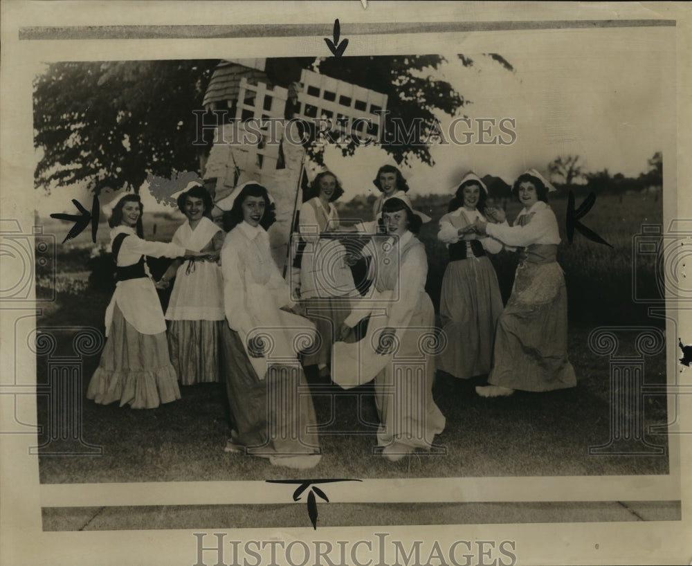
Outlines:
[[432, 399], [435, 311], [425, 290], [425, 246], [415, 237], [421, 215], [406, 195], [388, 199], [382, 212], [390, 238], [374, 239], [363, 250], [373, 256], [372, 296], [354, 306], [339, 338], [348, 340], [358, 321], [370, 316], [367, 334], [334, 344], [332, 379], [348, 389], [374, 378], [377, 444], [396, 462], [417, 448], [429, 450], [445, 419]]

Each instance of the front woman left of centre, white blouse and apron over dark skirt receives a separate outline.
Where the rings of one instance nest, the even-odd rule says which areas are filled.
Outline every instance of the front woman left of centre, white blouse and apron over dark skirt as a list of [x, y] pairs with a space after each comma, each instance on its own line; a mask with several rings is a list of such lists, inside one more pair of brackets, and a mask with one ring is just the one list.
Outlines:
[[221, 365], [233, 419], [226, 451], [311, 468], [320, 446], [307, 432], [316, 416], [296, 350], [314, 342], [315, 327], [295, 314], [300, 309], [272, 258], [266, 228], [275, 215], [266, 188], [245, 183], [226, 199], [233, 201], [221, 249]]

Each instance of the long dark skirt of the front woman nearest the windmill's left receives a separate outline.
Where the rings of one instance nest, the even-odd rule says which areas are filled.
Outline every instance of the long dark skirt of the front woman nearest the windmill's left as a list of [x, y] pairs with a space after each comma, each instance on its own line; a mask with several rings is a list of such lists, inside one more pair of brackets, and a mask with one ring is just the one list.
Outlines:
[[[320, 453], [312, 396], [300, 364], [270, 365], [261, 380], [237, 332], [224, 322], [221, 369], [232, 419], [235, 446], [260, 457]], [[309, 428], [313, 430], [308, 430]]]

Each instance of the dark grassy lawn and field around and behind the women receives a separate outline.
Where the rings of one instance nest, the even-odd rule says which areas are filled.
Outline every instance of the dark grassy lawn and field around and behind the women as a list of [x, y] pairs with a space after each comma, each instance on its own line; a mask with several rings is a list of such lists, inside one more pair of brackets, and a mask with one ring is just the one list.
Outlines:
[[[610, 438], [610, 380], [608, 359], [592, 353], [588, 335], [599, 325], [661, 327], [648, 318], [646, 309], [632, 302], [632, 238], [641, 223], [660, 223], [662, 203], [654, 197], [635, 196], [623, 205], [617, 197], [599, 197], [583, 223], [613, 248], [594, 244], [577, 234], [573, 243], [563, 242], [558, 261], [565, 271], [570, 300], [569, 352], [579, 385], [573, 390], [528, 394], [508, 399], [480, 399], [472, 383], [460, 383], [438, 374], [435, 399], [447, 418], [439, 437], [444, 455], [419, 454], [392, 464], [372, 455], [374, 430], [356, 419], [361, 404], [365, 421], [376, 422], [372, 391], [368, 385], [343, 392], [321, 383], [309, 372], [321, 435], [322, 462], [308, 474], [273, 468], [262, 459], [223, 452], [228, 437], [224, 390], [219, 384], [182, 387], [183, 399], [156, 410], [137, 411], [100, 406], [84, 396], [84, 440], [103, 446], [101, 456], [51, 457], [42, 455], [42, 482], [141, 482], [185, 480], [257, 480], [280, 477], [473, 477], [509, 475], [632, 475], [668, 471], [666, 456], [589, 455], [589, 446]], [[419, 199], [415, 206], [434, 219], [446, 212], [442, 199]], [[565, 234], [565, 200], [552, 202]], [[511, 219], [518, 206], [507, 210]], [[368, 211], [340, 210], [342, 217]], [[152, 230], [156, 223], [156, 235]], [[167, 240], [177, 223], [164, 217], [145, 217], [150, 239]], [[446, 250], [436, 237], [435, 223], [424, 226], [421, 240], [428, 253], [428, 292], [439, 304], [439, 286], [446, 268]], [[44, 223], [44, 233], [61, 241], [66, 227]], [[107, 239], [101, 226], [99, 240]], [[84, 235], [80, 241], [87, 241]], [[90, 244], [90, 243], [89, 243]], [[37, 295], [52, 293], [49, 274], [56, 273], [55, 302], [44, 303], [39, 327], [84, 325], [101, 328], [109, 293], [89, 284], [87, 262], [91, 246], [80, 242], [58, 244], [55, 263], [37, 266]], [[518, 261], [513, 253], [491, 257], [506, 300]], [[638, 262], [637, 277], [655, 292], [653, 261]], [[58, 333], [59, 334], [59, 333]], [[70, 336], [57, 336], [69, 349]], [[632, 336], [622, 332], [622, 343], [632, 350]], [[631, 353], [631, 352], [630, 352]], [[98, 354], [84, 358], [82, 387], [98, 365]], [[39, 356], [38, 381], [46, 380], [47, 360]], [[665, 383], [665, 354], [646, 358], [646, 383]], [[48, 418], [45, 401], [39, 399], [39, 418]], [[331, 424], [327, 426], [326, 423]], [[667, 422], [666, 398], [644, 399], [646, 426]], [[338, 434], [340, 430], [358, 434]], [[334, 433], [334, 434], [332, 434]], [[45, 437], [39, 437], [39, 443]], [[667, 446], [665, 435], [645, 435], [650, 444]]]

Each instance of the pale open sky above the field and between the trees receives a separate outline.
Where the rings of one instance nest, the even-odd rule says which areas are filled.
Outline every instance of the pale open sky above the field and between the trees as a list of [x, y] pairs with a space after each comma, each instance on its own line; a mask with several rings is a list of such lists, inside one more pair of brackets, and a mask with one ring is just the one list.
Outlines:
[[[602, 49], [575, 42], [567, 52], [502, 53], [514, 71], [483, 55], [471, 55], [475, 64], [465, 67], [455, 53], [444, 54], [447, 62], [431, 73], [448, 80], [471, 101], [462, 113], [474, 125], [477, 118], [494, 119], [495, 123], [503, 118], [515, 120], [516, 141], [480, 145], [475, 131], [471, 144], [457, 145], [449, 139], [448, 145], [433, 146], [434, 167], [415, 160], [400, 167], [411, 194], [453, 192], [468, 170], [511, 183], [529, 167], [547, 172], [550, 161], [568, 154], [579, 155], [586, 171], [607, 168], [611, 174], [638, 176], [648, 169], [647, 160], [655, 152], [666, 145], [675, 147], [671, 114], [675, 61], [664, 48], [644, 40], [635, 49], [606, 41]], [[440, 113], [439, 120], [448, 132], [453, 117]], [[457, 125], [457, 138], [463, 139], [465, 130], [466, 125]], [[379, 166], [395, 165], [379, 147], [360, 147], [354, 156], [343, 157], [339, 149], [327, 146], [325, 163], [340, 179], [344, 201], [372, 192]], [[65, 191], [56, 188], [51, 197], [45, 197], [37, 190], [41, 193], [39, 213], [69, 210]], [[82, 188], [69, 193], [69, 198], [90, 201]], [[143, 201], [148, 211], [171, 210], [158, 205], [146, 191]]]

